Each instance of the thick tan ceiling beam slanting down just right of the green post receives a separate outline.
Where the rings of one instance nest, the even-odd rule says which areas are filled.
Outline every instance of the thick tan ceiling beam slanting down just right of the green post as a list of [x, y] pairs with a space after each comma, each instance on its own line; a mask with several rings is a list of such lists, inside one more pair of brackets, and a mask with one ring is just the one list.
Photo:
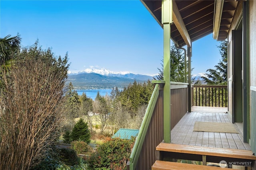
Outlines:
[[177, 29], [179, 30], [180, 35], [184, 39], [186, 45], [188, 47], [191, 47], [191, 39], [188, 34], [188, 30], [186, 29], [186, 26], [182, 20], [180, 11], [179, 11], [175, 1], [172, 1], [172, 20], [173, 20], [174, 24], [176, 25]]

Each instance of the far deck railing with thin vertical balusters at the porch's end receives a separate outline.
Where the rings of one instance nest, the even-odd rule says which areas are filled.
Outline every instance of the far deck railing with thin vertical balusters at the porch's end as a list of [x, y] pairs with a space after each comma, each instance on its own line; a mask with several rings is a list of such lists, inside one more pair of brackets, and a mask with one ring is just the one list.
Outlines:
[[192, 87], [192, 106], [228, 107], [226, 85], [194, 85]]

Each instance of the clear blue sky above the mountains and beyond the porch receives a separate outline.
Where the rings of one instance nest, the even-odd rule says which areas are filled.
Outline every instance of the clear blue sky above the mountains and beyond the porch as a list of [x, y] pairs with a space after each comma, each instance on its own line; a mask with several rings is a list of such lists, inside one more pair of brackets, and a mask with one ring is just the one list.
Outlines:
[[[0, 37], [20, 33], [22, 46], [39, 39], [56, 56], [68, 52], [70, 71], [107, 68], [157, 74], [163, 30], [139, 0], [0, 1]], [[192, 74], [220, 61], [212, 34], [192, 43]]]

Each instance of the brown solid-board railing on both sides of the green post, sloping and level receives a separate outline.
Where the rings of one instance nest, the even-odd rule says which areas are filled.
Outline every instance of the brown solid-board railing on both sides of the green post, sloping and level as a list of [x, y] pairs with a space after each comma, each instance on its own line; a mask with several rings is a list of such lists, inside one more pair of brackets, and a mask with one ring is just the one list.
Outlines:
[[[159, 83], [154, 88], [127, 162], [127, 170], [151, 169], [156, 161], [156, 146], [164, 139], [163, 86], [163, 83]], [[188, 110], [188, 84], [171, 82], [170, 90], [172, 129]]]

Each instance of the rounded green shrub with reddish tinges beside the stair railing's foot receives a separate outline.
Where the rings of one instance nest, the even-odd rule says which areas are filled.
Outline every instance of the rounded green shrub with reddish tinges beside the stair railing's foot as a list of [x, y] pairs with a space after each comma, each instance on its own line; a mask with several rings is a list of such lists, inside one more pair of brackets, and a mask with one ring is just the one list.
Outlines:
[[90, 170], [125, 170], [134, 139], [107, 139], [88, 160]]

